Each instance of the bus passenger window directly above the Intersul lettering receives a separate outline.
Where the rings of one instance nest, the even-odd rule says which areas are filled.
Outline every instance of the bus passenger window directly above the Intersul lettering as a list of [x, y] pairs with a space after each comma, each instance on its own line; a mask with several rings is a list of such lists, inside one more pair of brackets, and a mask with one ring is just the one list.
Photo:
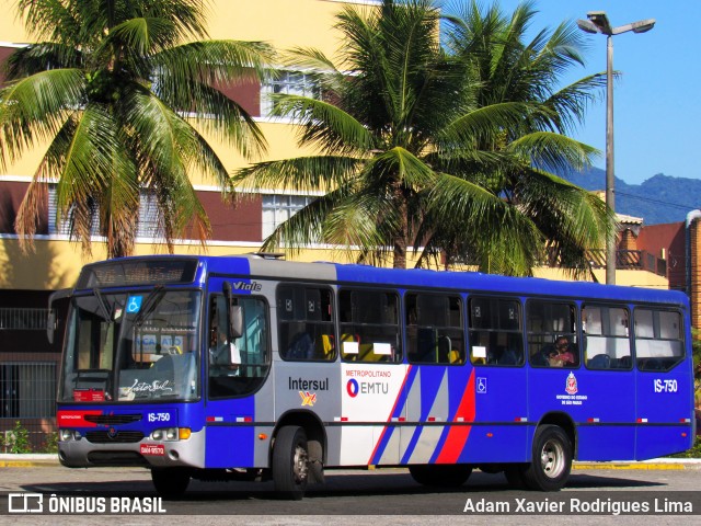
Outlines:
[[325, 287], [278, 287], [278, 348], [283, 359], [333, 362], [336, 358], [331, 298], [331, 289]]

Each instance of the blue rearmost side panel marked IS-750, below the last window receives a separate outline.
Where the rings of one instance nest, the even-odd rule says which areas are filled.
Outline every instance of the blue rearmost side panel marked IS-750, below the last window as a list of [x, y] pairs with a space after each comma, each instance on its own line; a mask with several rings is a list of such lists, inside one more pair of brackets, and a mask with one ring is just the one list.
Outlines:
[[[693, 445], [693, 379], [690, 361], [669, 371], [637, 371], [635, 458], [686, 451]], [[666, 424], [666, 425], [665, 425]]]

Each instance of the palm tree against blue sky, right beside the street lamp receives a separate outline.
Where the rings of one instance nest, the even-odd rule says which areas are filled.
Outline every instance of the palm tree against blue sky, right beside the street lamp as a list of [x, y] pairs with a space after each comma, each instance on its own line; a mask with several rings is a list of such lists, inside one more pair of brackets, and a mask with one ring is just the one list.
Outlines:
[[[445, 42], [451, 56], [472, 68], [478, 107], [522, 103], [528, 108], [521, 126], [503, 128], [496, 141], [491, 138], [491, 144], [480, 144], [481, 149], [513, 153], [516, 160], [482, 184], [529, 217], [547, 240], [550, 263], [576, 275], [589, 272], [586, 250], [601, 247], [605, 237], [612, 235], [613, 215], [596, 195], [548, 170], [576, 170], [582, 165], [581, 156], [593, 152], [574, 145], [566, 134], [582, 122], [605, 77], [585, 77], [556, 89], [564, 72], [584, 65], [581, 32], [574, 24], [562, 23], [525, 43], [537, 13], [533, 5], [525, 2], [507, 18], [496, 5], [482, 12], [476, 2], [468, 3], [450, 16]], [[468, 253], [482, 254], [482, 267], [496, 263], [498, 268], [501, 262], [484, 260], [490, 255], [489, 245], [470, 250], [471, 242], [483, 239], [461, 241], [467, 241]]]

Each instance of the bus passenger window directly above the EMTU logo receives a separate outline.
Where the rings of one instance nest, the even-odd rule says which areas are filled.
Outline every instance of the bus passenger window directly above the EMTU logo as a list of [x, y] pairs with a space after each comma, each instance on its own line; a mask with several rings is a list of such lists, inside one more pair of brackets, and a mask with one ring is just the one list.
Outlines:
[[395, 293], [341, 290], [338, 318], [341, 357], [345, 362], [402, 361], [399, 299]]

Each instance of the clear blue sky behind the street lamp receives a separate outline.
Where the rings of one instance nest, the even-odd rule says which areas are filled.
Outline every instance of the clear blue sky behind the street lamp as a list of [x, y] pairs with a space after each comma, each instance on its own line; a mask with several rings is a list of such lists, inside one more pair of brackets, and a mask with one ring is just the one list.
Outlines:
[[[491, 0], [478, 0], [490, 5]], [[505, 13], [520, 3], [498, 0]], [[629, 184], [664, 173], [701, 179], [701, 0], [536, 0], [533, 36], [563, 21], [605, 11], [612, 26], [655, 19], [647, 33], [613, 36], [614, 174]], [[606, 71], [606, 36], [583, 33], [586, 65], [574, 68], [566, 82]], [[601, 151], [595, 167], [606, 168], [606, 92], [587, 111], [585, 124], [572, 136]]]

